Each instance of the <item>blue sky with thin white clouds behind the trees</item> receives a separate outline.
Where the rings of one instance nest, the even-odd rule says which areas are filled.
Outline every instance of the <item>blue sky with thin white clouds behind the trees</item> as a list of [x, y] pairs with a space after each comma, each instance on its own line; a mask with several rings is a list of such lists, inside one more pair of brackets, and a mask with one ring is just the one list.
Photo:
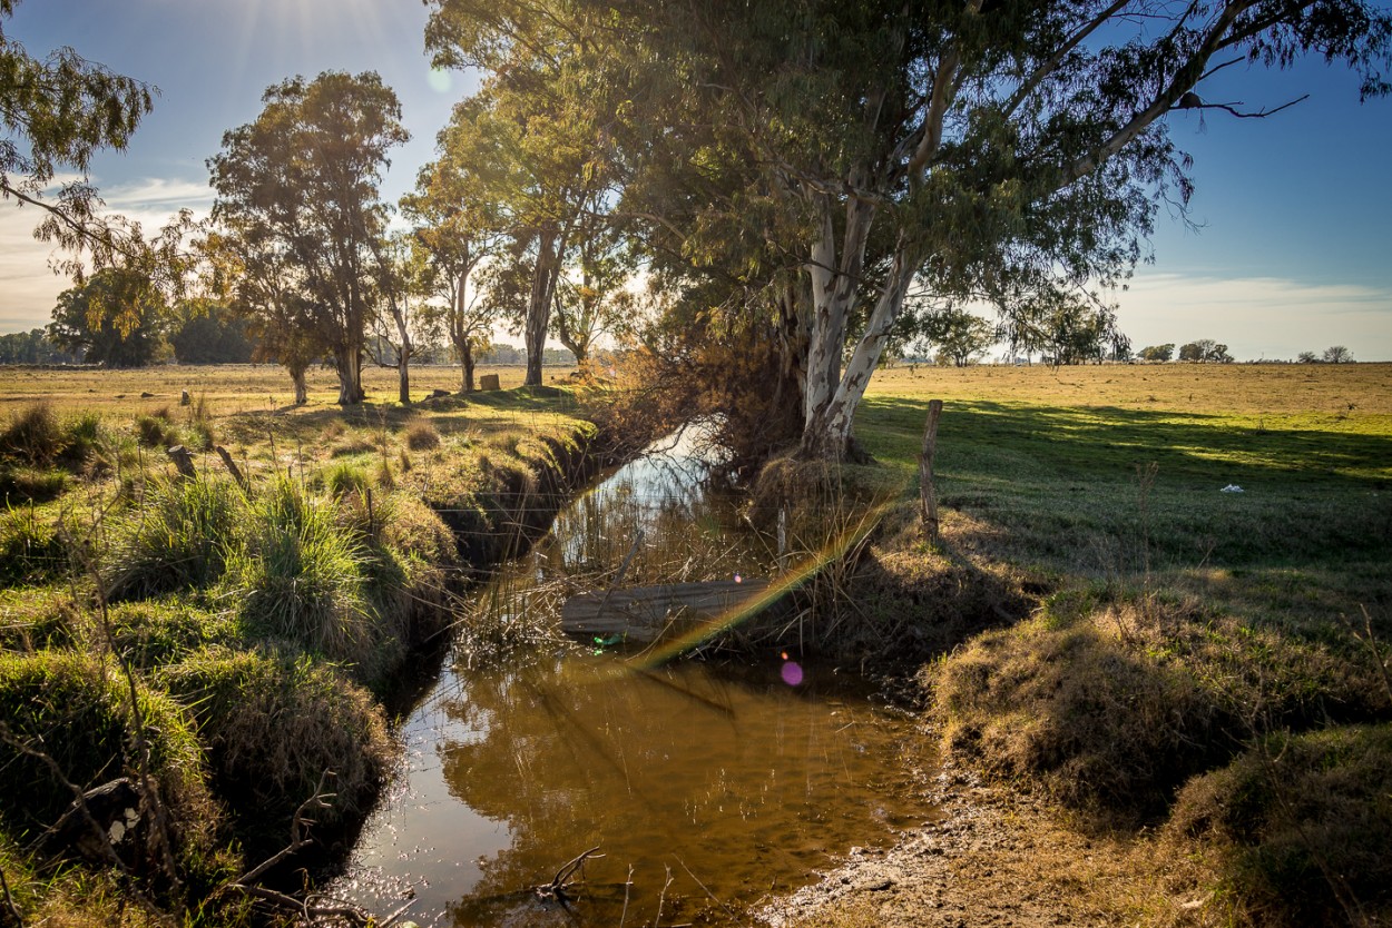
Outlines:
[[[159, 88], [131, 146], [92, 170], [113, 210], [155, 227], [181, 206], [207, 209], [205, 163], [224, 131], [256, 118], [269, 85], [324, 70], [377, 71], [397, 90], [412, 141], [395, 149], [384, 195], [411, 189], [450, 107], [476, 86], [430, 70], [427, 13], [420, 0], [22, 0], [4, 26], [31, 54], [71, 46]], [[1237, 65], [1201, 89], [1246, 110], [1304, 93], [1267, 120], [1168, 117], [1196, 192], [1187, 223], [1161, 211], [1154, 260], [1115, 294], [1136, 348], [1212, 338], [1239, 360], [1331, 345], [1392, 360], [1392, 100], [1360, 104], [1356, 77], [1320, 61]], [[67, 287], [32, 239], [38, 220], [0, 203], [0, 333], [47, 324]]]

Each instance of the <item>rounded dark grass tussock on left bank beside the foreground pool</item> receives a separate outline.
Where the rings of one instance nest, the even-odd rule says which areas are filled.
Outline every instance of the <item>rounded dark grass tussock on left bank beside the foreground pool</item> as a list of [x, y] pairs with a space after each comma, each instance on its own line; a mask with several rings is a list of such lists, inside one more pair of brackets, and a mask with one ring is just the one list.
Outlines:
[[284, 843], [290, 819], [326, 771], [334, 825], [362, 811], [383, 782], [394, 742], [372, 697], [295, 653], [209, 648], [159, 678], [192, 707], [214, 789], [245, 814], [258, 850]]

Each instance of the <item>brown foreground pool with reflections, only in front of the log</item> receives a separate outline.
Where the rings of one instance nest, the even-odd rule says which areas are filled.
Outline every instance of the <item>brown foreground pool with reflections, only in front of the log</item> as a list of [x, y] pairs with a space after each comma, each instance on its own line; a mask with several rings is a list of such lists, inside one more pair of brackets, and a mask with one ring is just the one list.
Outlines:
[[[924, 814], [887, 762], [922, 750], [917, 736], [816, 690], [816, 669], [795, 689], [777, 665], [476, 672], [422, 719], [438, 742], [415, 758], [411, 801], [369, 835], [359, 885], [373, 867], [423, 879], [422, 924], [617, 925], [625, 902], [635, 925], [658, 904], [667, 924], [738, 924], [742, 904]], [[604, 857], [586, 861], [571, 913], [529, 892], [593, 846]]]

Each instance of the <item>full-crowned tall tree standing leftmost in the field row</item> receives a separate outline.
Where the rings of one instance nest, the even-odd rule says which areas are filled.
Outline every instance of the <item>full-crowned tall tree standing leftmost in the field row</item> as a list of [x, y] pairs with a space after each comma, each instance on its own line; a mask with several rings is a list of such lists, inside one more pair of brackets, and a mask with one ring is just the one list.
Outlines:
[[358, 403], [365, 333], [383, 298], [377, 185], [388, 150], [409, 138], [401, 104], [370, 71], [295, 77], [262, 99], [256, 121], [224, 134], [209, 161], [213, 221], [245, 274], [239, 305], [283, 339], [273, 351], [295, 365], [330, 356], [338, 402]]

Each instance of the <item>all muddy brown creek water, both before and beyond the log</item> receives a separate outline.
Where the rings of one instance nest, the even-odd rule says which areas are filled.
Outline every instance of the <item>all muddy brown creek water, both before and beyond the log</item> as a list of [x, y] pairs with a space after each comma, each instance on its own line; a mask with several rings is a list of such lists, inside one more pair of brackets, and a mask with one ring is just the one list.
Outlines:
[[[707, 472], [686, 445], [621, 469], [477, 595], [554, 609], [537, 589], [596, 565], [612, 580], [624, 558], [646, 579], [768, 569]], [[402, 769], [331, 892], [379, 914], [411, 897], [420, 925], [748, 924], [760, 896], [931, 817], [908, 772], [923, 736], [831, 668], [653, 666], [594, 641], [489, 664], [447, 661], [408, 715]], [[564, 906], [535, 890], [594, 847]]]

